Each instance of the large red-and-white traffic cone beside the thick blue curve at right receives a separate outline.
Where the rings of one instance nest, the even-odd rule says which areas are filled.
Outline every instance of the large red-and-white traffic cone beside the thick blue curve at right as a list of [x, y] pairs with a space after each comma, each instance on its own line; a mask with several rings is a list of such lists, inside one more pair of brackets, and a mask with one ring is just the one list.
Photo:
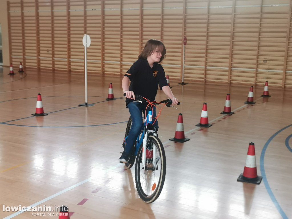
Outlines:
[[249, 143], [244, 171], [237, 178], [237, 182], [260, 184], [263, 177], [258, 176], [256, 170], [256, 153], [255, 144]]

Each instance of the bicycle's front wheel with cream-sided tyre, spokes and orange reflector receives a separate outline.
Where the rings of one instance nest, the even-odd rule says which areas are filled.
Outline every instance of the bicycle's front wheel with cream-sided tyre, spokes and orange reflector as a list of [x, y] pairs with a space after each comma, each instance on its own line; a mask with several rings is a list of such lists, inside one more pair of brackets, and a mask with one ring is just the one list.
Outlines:
[[143, 147], [141, 146], [138, 150], [135, 180], [140, 198], [146, 203], [151, 203], [159, 197], [164, 185], [166, 157], [164, 147], [159, 138], [153, 135], [148, 136], [148, 138], [145, 167], [142, 164]]

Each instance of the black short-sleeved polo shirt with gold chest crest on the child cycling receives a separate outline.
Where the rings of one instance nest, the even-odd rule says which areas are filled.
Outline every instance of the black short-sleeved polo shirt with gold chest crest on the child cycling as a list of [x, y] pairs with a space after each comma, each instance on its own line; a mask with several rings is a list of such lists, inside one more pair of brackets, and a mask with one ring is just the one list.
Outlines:
[[[168, 86], [163, 67], [154, 62], [151, 68], [147, 59], [138, 59], [124, 76], [131, 81], [129, 91], [140, 94], [150, 101], [155, 100], [158, 85], [160, 88]], [[131, 101], [133, 100], [126, 98], [126, 104]]]

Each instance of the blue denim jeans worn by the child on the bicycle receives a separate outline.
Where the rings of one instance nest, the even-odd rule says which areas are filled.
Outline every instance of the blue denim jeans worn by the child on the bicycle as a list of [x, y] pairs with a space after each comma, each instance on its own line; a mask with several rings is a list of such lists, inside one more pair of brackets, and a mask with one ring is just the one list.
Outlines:
[[[145, 116], [145, 110], [146, 110], [147, 104], [142, 104], [140, 102], [130, 102], [128, 104], [129, 112], [131, 114], [131, 118], [133, 120], [131, 129], [128, 134], [126, 147], [124, 152], [127, 154], [130, 154], [132, 152], [133, 146], [136, 143], [136, 140], [138, 138], [138, 135], [141, 132], [143, 123], [142, 123], [142, 112]], [[144, 117], [143, 116], [143, 117]], [[153, 115], [152, 118], [156, 117], [156, 107], [153, 107]], [[154, 122], [155, 119], [152, 119]], [[156, 120], [153, 124], [156, 131], [158, 131], [158, 121]]]

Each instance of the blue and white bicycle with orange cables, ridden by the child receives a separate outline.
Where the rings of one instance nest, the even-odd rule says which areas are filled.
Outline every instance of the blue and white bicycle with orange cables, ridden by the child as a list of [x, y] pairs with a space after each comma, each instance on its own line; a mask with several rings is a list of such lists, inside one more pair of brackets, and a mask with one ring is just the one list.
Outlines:
[[[125, 166], [127, 168], [133, 167], [136, 160], [135, 181], [138, 194], [143, 201], [151, 203], [159, 197], [166, 175], [166, 156], [164, 147], [152, 125], [157, 120], [157, 117], [159, 117], [163, 107], [160, 109], [157, 117], [152, 118], [153, 107], [156, 107], [154, 104], [164, 104], [164, 106], [170, 107], [172, 100], [167, 99], [160, 102], [151, 102], [147, 98], [135, 95], [135, 101], [141, 103], [148, 102], [148, 105], [146, 107], [147, 110], [144, 115], [145, 117], [141, 133], [138, 135], [136, 143], [133, 146], [133, 152]], [[179, 104], [180, 102], [178, 102], [178, 105]], [[155, 121], [152, 122], [152, 119], [155, 119]], [[124, 148], [131, 126], [132, 118], [130, 117], [126, 126], [126, 133], [123, 142]]]

